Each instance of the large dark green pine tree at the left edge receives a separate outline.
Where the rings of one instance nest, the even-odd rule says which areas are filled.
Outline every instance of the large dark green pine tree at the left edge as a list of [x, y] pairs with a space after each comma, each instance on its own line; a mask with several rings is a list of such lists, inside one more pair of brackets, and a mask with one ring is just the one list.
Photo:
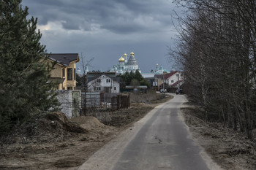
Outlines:
[[0, 0], [0, 134], [30, 115], [56, 109], [58, 101], [37, 19], [20, 0]]

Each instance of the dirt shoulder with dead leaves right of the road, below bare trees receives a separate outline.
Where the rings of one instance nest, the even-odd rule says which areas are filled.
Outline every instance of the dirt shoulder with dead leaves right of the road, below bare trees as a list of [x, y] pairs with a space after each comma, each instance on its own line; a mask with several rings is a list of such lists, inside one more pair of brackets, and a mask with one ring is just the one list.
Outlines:
[[203, 112], [187, 106], [181, 108], [193, 138], [223, 169], [256, 169], [256, 141], [221, 123], [206, 123]]

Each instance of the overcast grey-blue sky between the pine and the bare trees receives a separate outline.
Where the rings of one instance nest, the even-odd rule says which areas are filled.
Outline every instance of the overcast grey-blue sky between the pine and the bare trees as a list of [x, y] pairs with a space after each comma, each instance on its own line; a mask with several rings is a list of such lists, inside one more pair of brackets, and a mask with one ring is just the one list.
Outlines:
[[[23, 0], [38, 18], [48, 53], [83, 53], [89, 70], [107, 71], [124, 53], [134, 52], [142, 72], [156, 64], [169, 70], [173, 45], [172, 0]], [[79, 66], [79, 64], [78, 64]]]

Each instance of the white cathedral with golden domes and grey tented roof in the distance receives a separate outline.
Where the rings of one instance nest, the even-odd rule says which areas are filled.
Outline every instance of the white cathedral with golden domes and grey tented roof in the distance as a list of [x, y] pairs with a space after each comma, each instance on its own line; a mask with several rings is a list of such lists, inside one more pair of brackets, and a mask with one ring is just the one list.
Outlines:
[[127, 54], [124, 53], [124, 58], [121, 56], [118, 60], [118, 64], [114, 65], [110, 72], [116, 72], [116, 74], [124, 74], [125, 72], [136, 72], [138, 70], [140, 73], [140, 68], [135, 59], [134, 53], [130, 53], [129, 60], [127, 61]]

